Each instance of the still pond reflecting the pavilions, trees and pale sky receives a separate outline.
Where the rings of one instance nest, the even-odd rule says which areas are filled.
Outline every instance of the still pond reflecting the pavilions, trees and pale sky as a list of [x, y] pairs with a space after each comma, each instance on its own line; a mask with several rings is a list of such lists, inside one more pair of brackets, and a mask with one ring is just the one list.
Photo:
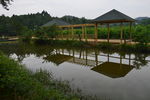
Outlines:
[[1, 44], [9, 57], [35, 72], [47, 70], [72, 89], [99, 100], [150, 100], [150, 56], [98, 49]]

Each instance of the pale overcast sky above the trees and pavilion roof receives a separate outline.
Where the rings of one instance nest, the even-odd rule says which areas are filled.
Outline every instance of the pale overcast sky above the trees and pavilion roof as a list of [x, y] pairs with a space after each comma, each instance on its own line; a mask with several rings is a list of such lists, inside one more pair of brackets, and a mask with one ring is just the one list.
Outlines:
[[150, 0], [14, 0], [9, 8], [7, 11], [0, 6], [0, 15], [22, 15], [45, 10], [51, 16], [73, 15], [93, 19], [116, 9], [133, 18], [150, 16]]

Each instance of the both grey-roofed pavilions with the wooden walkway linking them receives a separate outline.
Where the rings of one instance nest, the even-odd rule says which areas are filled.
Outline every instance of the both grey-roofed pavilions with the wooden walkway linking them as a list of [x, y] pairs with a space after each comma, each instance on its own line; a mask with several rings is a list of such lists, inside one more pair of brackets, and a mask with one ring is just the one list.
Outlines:
[[[92, 40], [95, 41], [95, 43], [100, 42], [100, 39], [98, 39], [98, 27], [99, 25], [107, 25], [107, 42], [110, 42], [110, 24], [114, 24], [114, 23], [120, 23], [120, 42], [119, 43], [123, 43], [123, 39], [124, 39], [124, 43], [126, 43], [126, 39], [125, 37], [123, 37], [124, 32], [123, 32], [123, 24], [124, 23], [129, 23], [130, 25], [130, 36], [129, 36], [129, 40], [130, 42], [132, 42], [132, 24], [135, 22], [135, 20], [115, 9], [101, 15], [100, 17], [95, 18], [94, 20], [92, 20], [92, 22], [90, 24], [77, 24], [77, 25], [70, 25], [64, 21], [60, 21], [60, 20], [52, 20], [50, 22], [48, 22], [47, 24], [43, 25], [43, 26], [49, 26], [49, 25], [53, 25], [56, 24], [58, 25], [61, 29], [68, 29], [69, 30], [69, 38], [70, 39], [74, 39], [75, 37], [75, 32], [74, 32], [74, 28], [76, 27], [81, 27], [82, 29], [82, 40], [90, 40], [89, 37], [87, 36], [87, 27], [94, 27], [94, 34], [92, 35]], [[61, 34], [62, 37], [63, 34]], [[58, 36], [59, 37], [59, 36]], [[80, 38], [80, 37], [77, 37]], [[90, 36], [91, 38], [91, 36]], [[63, 38], [62, 38], [63, 39]]]

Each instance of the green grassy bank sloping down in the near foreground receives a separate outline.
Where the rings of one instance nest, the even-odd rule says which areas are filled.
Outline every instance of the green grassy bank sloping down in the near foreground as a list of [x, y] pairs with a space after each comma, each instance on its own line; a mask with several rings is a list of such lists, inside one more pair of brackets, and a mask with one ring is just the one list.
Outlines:
[[54, 80], [50, 73], [32, 73], [0, 52], [1, 100], [92, 100], [86, 98], [66, 83]]

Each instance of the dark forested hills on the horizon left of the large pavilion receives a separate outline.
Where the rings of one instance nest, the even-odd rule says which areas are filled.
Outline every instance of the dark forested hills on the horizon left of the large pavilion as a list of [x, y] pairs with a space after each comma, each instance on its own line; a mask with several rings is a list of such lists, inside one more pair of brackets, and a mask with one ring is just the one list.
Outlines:
[[[42, 11], [41, 13], [36, 14], [28, 14], [20, 16], [13, 15], [12, 17], [6, 17], [2, 15], [0, 16], [0, 25], [3, 26], [7, 24], [8, 26], [10, 26], [10, 24], [20, 24], [30, 29], [34, 29], [35, 27], [41, 26], [55, 18], [57, 17], [52, 17], [46, 11]], [[84, 17], [78, 18], [74, 16], [64, 16], [58, 19], [64, 20], [70, 24], [81, 24], [89, 22], [89, 20], [85, 19]]]

